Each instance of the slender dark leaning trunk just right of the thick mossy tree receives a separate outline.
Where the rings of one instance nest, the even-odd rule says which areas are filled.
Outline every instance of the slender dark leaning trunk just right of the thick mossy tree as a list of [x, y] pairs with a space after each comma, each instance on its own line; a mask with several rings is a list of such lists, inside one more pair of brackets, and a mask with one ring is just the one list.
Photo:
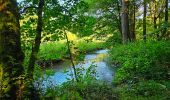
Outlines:
[[38, 23], [36, 28], [36, 37], [35, 41], [32, 45], [32, 53], [29, 60], [29, 66], [28, 66], [28, 80], [30, 81], [30, 85], [32, 85], [31, 89], [31, 96], [30, 98], [36, 97], [36, 93], [34, 93], [35, 89], [33, 87], [33, 72], [34, 72], [34, 65], [37, 60], [37, 54], [40, 48], [41, 43], [41, 32], [42, 32], [42, 26], [43, 26], [43, 6], [44, 6], [44, 0], [39, 0], [38, 8], [37, 8], [37, 16], [38, 16]]

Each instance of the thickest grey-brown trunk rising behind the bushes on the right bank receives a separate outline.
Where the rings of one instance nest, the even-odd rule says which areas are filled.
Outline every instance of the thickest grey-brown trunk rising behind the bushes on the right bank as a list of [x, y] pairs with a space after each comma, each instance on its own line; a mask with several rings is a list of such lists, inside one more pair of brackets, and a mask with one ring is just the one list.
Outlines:
[[128, 42], [129, 36], [128, 3], [129, 3], [128, 0], [122, 0], [121, 26], [123, 44], [126, 44]]

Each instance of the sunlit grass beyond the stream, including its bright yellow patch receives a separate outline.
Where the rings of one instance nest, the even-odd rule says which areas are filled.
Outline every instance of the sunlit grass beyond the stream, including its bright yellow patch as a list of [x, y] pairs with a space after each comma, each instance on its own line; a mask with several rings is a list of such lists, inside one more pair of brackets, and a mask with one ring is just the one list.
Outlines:
[[[91, 35], [88, 37], [79, 38], [69, 31], [67, 31], [67, 36], [70, 41], [71, 52], [75, 58], [91, 51], [106, 48], [107, 45], [104, 41], [110, 37], [110, 35], [108, 35], [97, 39], [96, 36]], [[41, 61], [62, 60], [64, 58], [69, 58], [66, 40], [41, 43], [38, 58]]]

